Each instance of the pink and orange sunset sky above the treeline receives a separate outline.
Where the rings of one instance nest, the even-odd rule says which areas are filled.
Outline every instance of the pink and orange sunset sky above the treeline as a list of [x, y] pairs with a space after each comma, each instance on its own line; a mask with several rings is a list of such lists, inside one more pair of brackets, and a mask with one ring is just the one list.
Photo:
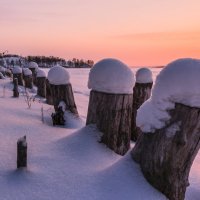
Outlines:
[[199, 0], [0, 0], [0, 27], [0, 53], [129, 66], [200, 58]]

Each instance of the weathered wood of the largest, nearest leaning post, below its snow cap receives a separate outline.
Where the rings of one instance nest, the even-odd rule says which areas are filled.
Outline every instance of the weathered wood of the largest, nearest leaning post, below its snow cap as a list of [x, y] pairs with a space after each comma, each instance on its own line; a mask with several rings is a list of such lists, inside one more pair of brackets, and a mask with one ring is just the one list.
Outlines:
[[190, 168], [200, 148], [200, 109], [176, 103], [170, 121], [142, 133], [131, 154], [145, 178], [170, 200], [184, 200]]

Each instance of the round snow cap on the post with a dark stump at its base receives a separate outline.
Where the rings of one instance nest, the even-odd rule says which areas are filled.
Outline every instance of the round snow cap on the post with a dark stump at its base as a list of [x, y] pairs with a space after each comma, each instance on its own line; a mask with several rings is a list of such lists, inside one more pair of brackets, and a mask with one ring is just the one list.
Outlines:
[[65, 85], [70, 83], [70, 75], [64, 67], [57, 65], [49, 70], [48, 80], [53, 85]]

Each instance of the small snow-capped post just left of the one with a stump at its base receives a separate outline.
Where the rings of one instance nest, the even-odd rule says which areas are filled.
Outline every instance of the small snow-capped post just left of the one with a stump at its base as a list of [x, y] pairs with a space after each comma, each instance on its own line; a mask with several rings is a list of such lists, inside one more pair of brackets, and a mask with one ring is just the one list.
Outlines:
[[41, 97], [46, 97], [46, 73], [39, 69], [37, 71], [37, 87], [38, 87], [38, 90], [37, 90], [37, 95], [41, 96]]

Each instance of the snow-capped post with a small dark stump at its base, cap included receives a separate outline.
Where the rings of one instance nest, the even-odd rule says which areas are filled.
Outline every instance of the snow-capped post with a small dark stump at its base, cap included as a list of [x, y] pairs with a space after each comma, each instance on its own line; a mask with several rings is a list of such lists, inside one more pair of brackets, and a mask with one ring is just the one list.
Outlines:
[[64, 101], [66, 104], [66, 110], [69, 110], [74, 114], [78, 114], [72, 85], [69, 79], [69, 73], [64, 67], [57, 65], [52, 67], [48, 72], [48, 80], [50, 83], [55, 111], [58, 110], [58, 104], [60, 101]]

